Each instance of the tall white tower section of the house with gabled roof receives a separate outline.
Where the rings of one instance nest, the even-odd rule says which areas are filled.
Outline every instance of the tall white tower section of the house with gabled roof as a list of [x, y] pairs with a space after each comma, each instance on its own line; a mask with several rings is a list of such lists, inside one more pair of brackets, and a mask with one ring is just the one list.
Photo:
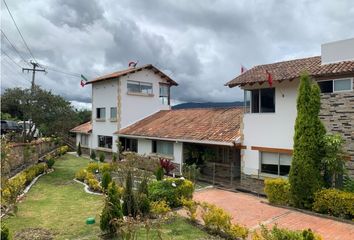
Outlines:
[[151, 64], [88, 81], [92, 120], [71, 130], [83, 151], [117, 152], [113, 133], [160, 110], [169, 110], [170, 88], [178, 84]]

